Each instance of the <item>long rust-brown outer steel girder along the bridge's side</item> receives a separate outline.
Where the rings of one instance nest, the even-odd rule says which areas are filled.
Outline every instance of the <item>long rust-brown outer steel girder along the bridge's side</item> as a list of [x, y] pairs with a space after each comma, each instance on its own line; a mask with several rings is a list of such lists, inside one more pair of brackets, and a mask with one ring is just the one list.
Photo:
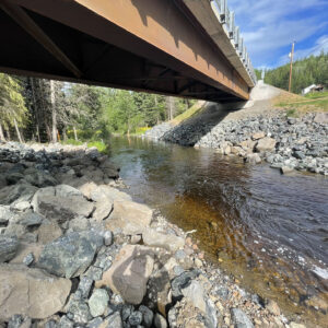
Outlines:
[[247, 83], [172, 0], [12, 1], [200, 83], [249, 97]]

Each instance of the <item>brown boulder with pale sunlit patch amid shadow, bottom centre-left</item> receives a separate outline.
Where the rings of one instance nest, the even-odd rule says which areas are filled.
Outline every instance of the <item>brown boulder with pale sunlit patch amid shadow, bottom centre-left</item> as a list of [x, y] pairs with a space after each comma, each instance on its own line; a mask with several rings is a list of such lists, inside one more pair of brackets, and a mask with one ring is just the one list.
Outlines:
[[147, 282], [153, 271], [154, 258], [150, 248], [126, 245], [115, 258], [96, 288], [109, 286], [131, 304], [140, 304], [147, 292]]

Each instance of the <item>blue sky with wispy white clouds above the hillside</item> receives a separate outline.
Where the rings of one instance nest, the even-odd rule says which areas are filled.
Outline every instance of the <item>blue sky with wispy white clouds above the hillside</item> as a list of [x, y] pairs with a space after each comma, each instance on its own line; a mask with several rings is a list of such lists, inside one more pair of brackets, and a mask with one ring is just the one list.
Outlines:
[[229, 0], [256, 68], [328, 51], [328, 0]]

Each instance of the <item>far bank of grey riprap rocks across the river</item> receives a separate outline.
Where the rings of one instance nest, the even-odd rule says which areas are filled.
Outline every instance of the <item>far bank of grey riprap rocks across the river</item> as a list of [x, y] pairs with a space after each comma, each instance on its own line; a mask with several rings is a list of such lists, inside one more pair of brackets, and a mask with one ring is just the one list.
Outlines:
[[174, 128], [161, 125], [148, 131], [147, 137], [212, 148], [223, 155], [241, 156], [245, 163], [265, 161], [283, 174], [296, 169], [328, 175], [328, 114], [325, 113], [294, 118], [283, 110], [271, 110], [270, 115], [227, 117], [214, 124], [194, 119]]

